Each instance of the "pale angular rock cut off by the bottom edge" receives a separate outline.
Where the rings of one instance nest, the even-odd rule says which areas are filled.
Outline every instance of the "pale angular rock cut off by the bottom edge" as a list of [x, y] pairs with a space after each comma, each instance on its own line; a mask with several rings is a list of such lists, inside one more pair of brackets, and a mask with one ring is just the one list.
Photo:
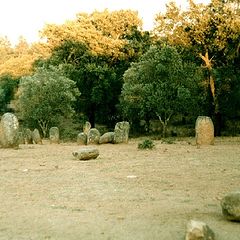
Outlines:
[[185, 240], [214, 240], [213, 231], [204, 222], [191, 220], [187, 224]]

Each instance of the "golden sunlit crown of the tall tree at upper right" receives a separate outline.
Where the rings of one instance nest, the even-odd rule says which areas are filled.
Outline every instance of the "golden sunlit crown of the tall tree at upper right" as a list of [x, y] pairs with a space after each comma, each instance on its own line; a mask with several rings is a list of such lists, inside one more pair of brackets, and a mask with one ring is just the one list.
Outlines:
[[240, 32], [239, 1], [212, 0], [208, 5], [189, 0], [189, 9], [182, 11], [175, 3], [155, 19], [154, 34], [171, 44], [198, 45], [202, 51], [222, 51]]

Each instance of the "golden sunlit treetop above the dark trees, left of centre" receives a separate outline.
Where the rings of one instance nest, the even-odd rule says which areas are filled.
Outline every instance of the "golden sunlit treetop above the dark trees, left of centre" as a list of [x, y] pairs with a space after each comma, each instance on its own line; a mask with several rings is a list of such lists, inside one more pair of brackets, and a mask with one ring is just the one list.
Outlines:
[[79, 13], [75, 20], [62, 25], [47, 24], [41, 36], [52, 49], [65, 40], [73, 40], [87, 44], [94, 54], [118, 58], [126, 44], [124, 37], [136, 26], [142, 28], [142, 21], [135, 11], [94, 11]]

